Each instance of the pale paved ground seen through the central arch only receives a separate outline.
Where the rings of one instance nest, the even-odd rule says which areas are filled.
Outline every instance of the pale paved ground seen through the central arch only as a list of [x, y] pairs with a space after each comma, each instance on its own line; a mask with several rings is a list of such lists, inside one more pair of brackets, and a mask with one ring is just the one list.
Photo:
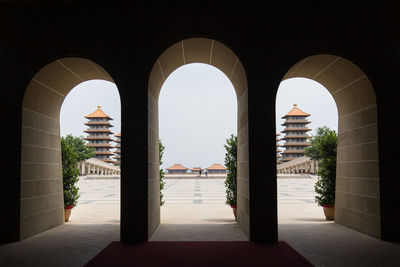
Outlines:
[[225, 204], [223, 179], [166, 179], [161, 225], [151, 241], [245, 241]]

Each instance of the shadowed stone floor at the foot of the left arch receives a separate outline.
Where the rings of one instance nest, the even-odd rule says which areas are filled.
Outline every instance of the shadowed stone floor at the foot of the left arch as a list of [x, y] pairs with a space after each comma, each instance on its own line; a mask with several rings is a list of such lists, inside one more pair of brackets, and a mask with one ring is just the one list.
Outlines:
[[[0, 266], [83, 266], [119, 239], [119, 224], [65, 223], [1, 246]], [[65, 251], [68, 256], [60, 257]]]

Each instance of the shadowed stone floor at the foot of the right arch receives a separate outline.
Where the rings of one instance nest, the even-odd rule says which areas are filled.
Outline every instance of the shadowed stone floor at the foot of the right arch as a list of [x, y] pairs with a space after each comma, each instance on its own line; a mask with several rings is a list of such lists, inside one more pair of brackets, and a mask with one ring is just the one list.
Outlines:
[[315, 266], [400, 266], [398, 244], [326, 222], [279, 224], [278, 239]]

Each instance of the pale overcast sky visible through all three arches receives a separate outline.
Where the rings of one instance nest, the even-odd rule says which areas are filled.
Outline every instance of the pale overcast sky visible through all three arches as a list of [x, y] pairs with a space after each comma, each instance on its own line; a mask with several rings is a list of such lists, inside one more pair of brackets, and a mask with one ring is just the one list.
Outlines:
[[[328, 126], [337, 131], [337, 109], [330, 93], [319, 83], [294, 78], [280, 84], [277, 131], [281, 117], [296, 103], [310, 113], [309, 127]], [[61, 135], [87, 136], [84, 116], [102, 106], [114, 120], [111, 131], [121, 131], [121, 107], [115, 84], [92, 80], [76, 86], [65, 98], [60, 113]], [[224, 164], [225, 140], [237, 131], [237, 100], [229, 79], [217, 68], [188, 64], [165, 81], [159, 98], [160, 139], [166, 147], [162, 168], [181, 163], [188, 168]], [[313, 133], [313, 131], [311, 132]], [[122, 148], [123, 149], [123, 148]]]

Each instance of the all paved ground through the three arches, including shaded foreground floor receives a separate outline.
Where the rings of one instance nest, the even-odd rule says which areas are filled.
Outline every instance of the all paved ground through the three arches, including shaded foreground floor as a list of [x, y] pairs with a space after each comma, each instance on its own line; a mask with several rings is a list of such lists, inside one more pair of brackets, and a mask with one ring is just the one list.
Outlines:
[[[278, 179], [279, 240], [315, 266], [400, 266], [398, 244], [326, 221], [314, 202], [315, 181], [315, 177]], [[223, 182], [166, 179], [161, 225], [151, 241], [247, 240], [225, 204]], [[119, 240], [120, 180], [81, 177], [78, 187], [81, 197], [70, 222], [1, 245], [0, 266], [82, 266]]]

